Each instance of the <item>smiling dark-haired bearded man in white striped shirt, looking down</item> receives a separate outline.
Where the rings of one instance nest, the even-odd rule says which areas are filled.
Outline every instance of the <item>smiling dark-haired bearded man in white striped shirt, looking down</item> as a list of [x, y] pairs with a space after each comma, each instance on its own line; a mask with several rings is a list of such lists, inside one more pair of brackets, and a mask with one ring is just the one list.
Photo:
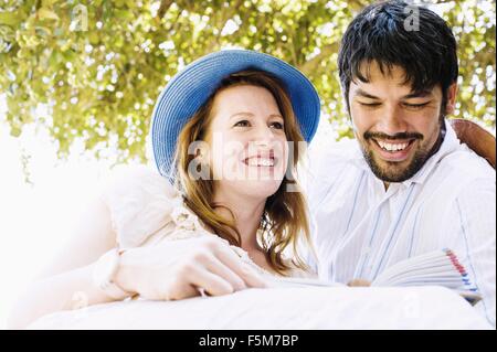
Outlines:
[[395, 263], [451, 248], [495, 326], [495, 171], [445, 119], [457, 94], [452, 31], [429, 9], [372, 4], [348, 26], [338, 64], [357, 141], [310, 147], [319, 277], [372, 281]]

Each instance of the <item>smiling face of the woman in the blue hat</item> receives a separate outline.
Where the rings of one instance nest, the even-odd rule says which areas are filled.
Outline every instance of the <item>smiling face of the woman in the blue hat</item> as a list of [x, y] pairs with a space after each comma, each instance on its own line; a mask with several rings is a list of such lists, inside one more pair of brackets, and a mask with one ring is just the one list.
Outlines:
[[208, 128], [216, 192], [265, 199], [285, 175], [288, 146], [285, 120], [263, 87], [229, 87], [214, 98]]

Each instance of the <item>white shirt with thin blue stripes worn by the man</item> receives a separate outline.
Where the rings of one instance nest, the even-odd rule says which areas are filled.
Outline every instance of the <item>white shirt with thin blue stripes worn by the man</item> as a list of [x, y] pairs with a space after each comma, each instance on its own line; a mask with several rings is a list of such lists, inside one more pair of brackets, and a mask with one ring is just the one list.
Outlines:
[[387, 191], [357, 141], [310, 147], [306, 190], [315, 266], [325, 280], [373, 280], [400, 260], [450, 248], [483, 296], [478, 309], [495, 326], [496, 174], [459, 143], [448, 122], [446, 128], [423, 168]]

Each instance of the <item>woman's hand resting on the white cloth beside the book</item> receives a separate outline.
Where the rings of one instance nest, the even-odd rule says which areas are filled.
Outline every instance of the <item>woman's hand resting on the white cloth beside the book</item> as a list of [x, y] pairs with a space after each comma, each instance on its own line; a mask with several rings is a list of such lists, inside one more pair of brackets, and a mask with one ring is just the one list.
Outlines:
[[265, 287], [262, 277], [219, 237], [165, 242], [126, 250], [116, 282], [123, 289], [154, 300], [177, 300], [232, 294]]

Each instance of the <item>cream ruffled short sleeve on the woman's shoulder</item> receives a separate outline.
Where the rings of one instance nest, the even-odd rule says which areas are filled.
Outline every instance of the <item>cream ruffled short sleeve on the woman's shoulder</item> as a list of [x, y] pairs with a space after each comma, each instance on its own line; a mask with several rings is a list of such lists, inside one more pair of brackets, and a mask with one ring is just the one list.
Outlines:
[[116, 168], [102, 193], [123, 249], [208, 234], [180, 193], [148, 167]]

